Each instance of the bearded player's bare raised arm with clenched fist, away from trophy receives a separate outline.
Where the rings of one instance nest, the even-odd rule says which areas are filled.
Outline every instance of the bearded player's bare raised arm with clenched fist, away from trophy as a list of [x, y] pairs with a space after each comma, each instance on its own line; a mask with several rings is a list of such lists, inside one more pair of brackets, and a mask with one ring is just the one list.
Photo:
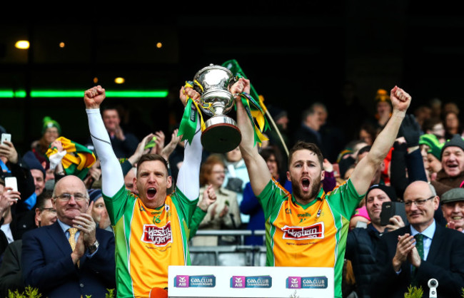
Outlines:
[[375, 142], [372, 148], [370, 148], [368, 155], [360, 160], [350, 177], [351, 182], [360, 195], [367, 192], [375, 171], [395, 142], [400, 125], [403, 122], [403, 118], [405, 118], [406, 110], [408, 110], [410, 105], [411, 97], [403, 89], [395, 86], [390, 91], [390, 100], [393, 105], [393, 114], [390, 120], [388, 120], [387, 125], [379, 133], [378, 137], [375, 138]]

